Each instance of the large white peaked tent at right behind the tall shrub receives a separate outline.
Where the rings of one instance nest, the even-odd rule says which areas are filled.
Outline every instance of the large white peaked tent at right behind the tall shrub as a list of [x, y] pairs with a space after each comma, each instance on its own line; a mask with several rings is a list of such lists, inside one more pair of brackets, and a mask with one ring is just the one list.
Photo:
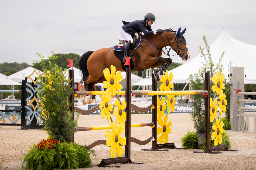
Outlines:
[[[202, 47], [204, 46], [202, 45]], [[231, 62], [232, 67], [244, 67], [244, 74], [246, 75], [245, 80], [247, 79], [247, 84], [248, 82], [256, 83], [256, 45], [240, 42], [231, 37], [223, 29], [218, 38], [210, 45], [210, 52], [214, 64], [218, 62], [223, 51], [225, 51], [225, 54], [221, 60], [221, 63], [224, 68], [223, 73], [225, 76], [228, 76], [229, 74], [228, 70], [229, 64]], [[179, 80], [180, 82], [184, 83], [188, 82], [187, 79], [189, 78], [189, 75], [197, 73], [198, 70], [203, 66], [201, 62], [205, 63], [205, 60], [203, 57], [201, 57], [201, 55], [198, 55], [194, 58], [193, 56], [191, 56], [191, 58], [186, 63], [170, 70], [168, 73], [173, 74], [172, 82], [178, 83], [175, 82], [176, 80]]]

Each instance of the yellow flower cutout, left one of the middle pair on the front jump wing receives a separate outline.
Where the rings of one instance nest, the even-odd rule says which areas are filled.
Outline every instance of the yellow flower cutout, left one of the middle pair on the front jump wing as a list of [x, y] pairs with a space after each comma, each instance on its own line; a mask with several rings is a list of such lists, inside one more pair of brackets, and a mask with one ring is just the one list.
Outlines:
[[108, 122], [110, 121], [111, 114], [110, 112], [113, 111], [113, 104], [109, 104], [111, 101], [111, 97], [109, 95], [103, 94], [101, 96], [102, 102], [100, 102], [100, 116], [105, 119], [105, 115], [107, 115]]

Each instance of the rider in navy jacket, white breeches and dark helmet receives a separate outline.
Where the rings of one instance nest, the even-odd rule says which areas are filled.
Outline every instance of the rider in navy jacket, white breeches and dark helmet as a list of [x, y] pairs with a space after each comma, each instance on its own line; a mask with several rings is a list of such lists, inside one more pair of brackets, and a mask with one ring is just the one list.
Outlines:
[[[125, 57], [127, 57], [128, 52], [133, 44], [133, 38], [132, 36], [136, 32], [143, 32], [144, 35], [154, 35], [156, 33], [161, 33], [163, 30], [162, 29], [157, 29], [152, 31], [151, 25], [153, 23], [156, 24], [156, 17], [152, 13], [147, 13], [144, 16], [144, 20], [136, 20], [133, 22], [125, 22], [123, 21], [123, 26], [121, 28], [121, 36], [128, 41], [128, 43], [125, 46], [125, 51], [124, 51], [124, 57], [123, 57], [123, 62], [125, 63]], [[131, 57], [129, 57], [131, 59]]]

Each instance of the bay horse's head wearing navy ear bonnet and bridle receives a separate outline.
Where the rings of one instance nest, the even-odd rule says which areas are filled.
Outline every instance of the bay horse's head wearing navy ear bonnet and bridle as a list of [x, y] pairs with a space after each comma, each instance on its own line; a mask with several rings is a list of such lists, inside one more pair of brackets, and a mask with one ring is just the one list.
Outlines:
[[[187, 27], [186, 27], [187, 28]], [[182, 60], [187, 61], [190, 58], [188, 49], [187, 49], [187, 41], [184, 37], [184, 33], [186, 31], [186, 28], [183, 31], [180, 31], [180, 27], [178, 31], [174, 32], [176, 43], [172, 44], [172, 49], [181, 57]]]

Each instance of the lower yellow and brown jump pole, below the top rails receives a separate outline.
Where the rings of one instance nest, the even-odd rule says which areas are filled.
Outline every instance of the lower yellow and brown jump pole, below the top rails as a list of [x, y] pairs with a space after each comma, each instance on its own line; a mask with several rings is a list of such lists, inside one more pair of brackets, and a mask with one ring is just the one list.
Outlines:
[[[135, 127], [143, 127], [143, 126], [154, 126], [154, 122], [148, 123], [133, 123], [131, 124], [131, 128]], [[119, 125], [117, 124], [117, 128]], [[77, 127], [76, 131], [89, 131], [89, 130], [103, 130], [103, 129], [111, 129], [110, 125], [103, 125], [103, 126], [88, 126], [88, 127]]]

